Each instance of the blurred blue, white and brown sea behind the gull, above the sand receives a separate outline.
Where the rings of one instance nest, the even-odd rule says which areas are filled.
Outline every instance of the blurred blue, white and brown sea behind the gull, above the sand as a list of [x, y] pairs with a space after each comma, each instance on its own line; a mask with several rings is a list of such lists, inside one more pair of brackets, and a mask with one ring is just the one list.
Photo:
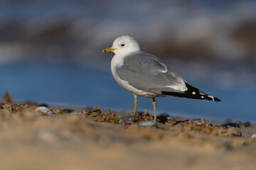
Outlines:
[[[0, 1], [0, 95], [50, 106], [132, 111], [112, 77], [119, 35], [220, 103], [157, 98], [157, 112], [256, 123], [256, 1]], [[138, 110], [152, 113], [151, 98]]]

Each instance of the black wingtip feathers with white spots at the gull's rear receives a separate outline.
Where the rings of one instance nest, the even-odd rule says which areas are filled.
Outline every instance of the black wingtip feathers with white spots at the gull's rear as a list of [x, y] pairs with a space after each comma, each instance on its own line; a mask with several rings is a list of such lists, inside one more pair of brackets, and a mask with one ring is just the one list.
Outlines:
[[204, 93], [203, 91], [197, 89], [196, 87], [191, 86], [190, 84], [186, 83], [186, 86], [188, 88], [187, 91], [182, 91], [182, 92], [162, 91], [161, 94], [177, 96], [182, 98], [195, 98], [195, 99], [208, 100], [208, 101], [220, 101], [219, 98], [210, 96]]

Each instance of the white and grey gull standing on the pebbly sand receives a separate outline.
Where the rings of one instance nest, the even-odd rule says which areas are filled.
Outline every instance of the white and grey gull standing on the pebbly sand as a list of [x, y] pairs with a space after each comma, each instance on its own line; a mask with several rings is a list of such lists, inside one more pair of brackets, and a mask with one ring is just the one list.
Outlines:
[[153, 99], [154, 120], [156, 120], [156, 97], [178, 96], [208, 101], [220, 101], [194, 86], [155, 55], [140, 50], [137, 40], [122, 35], [114, 40], [112, 47], [102, 52], [114, 52], [111, 71], [119, 86], [134, 95], [134, 115], [137, 96]]

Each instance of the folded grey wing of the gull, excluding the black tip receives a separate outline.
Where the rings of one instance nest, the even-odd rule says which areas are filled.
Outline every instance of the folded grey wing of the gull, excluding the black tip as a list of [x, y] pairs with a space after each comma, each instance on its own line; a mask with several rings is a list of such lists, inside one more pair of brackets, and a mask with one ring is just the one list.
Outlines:
[[117, 67], [120, 79], [137, 89], [161, 94], [161, 91], [186, 91], [185, 81], [158, 57], [146, 52], [137, 52], [124, 58]]

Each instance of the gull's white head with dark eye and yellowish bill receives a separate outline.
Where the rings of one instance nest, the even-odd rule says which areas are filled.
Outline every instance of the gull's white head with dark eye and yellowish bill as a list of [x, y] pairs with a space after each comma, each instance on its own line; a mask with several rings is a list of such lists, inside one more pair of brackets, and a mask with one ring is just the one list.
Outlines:
[[140, 50], [140, 48], [137, 40], [129, 35], [122, 35], [114, 40], [112, 47], [106, 48], [102, 52], [112, 51], [115, 55], [118, 55], [127, 54], [138, 50]]

